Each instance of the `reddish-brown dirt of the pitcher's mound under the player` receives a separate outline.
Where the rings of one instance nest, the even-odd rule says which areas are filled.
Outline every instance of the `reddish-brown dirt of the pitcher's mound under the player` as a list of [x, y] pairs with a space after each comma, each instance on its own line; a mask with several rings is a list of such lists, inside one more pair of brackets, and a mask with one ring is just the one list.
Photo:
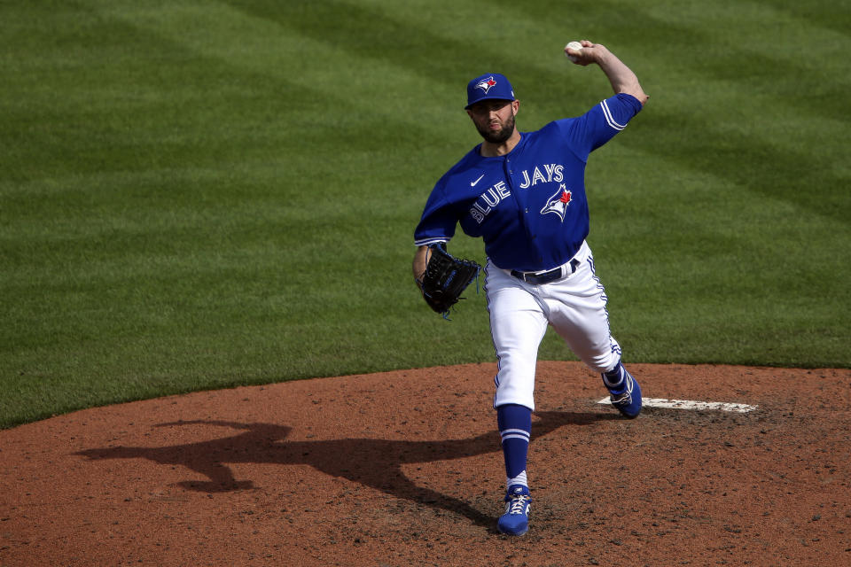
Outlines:
[[851, 371], [542, 362], [530, 532], [496, 533], [495, 365], [200, 392], [0, 431], [0, 565], [851, 564]]

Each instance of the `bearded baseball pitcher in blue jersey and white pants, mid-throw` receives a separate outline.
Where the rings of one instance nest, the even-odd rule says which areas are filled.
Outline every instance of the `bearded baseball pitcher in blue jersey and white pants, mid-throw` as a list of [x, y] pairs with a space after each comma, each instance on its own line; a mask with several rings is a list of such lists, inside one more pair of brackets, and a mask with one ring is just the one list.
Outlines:
[[[626, 128], [647, 96], [636, 75], [604, 45], [570, 43], [565, 54], [575, 65], [598, 66], [614, 95], [582, 116], [520, 132], [515, 126], [520, 101], [508, 79], [498, 73], [473, 79], [465, 110], [483, 142], [437, 182], [414, 232], [414, 278], [432, 306], [433, 297], [460, 293], [457, 288], [464, 285], [457, 285], [459, 279], [469, 283], [478, 273], [478, 266], [469, 263], [467, 268], [441, 268], [456, 225], [484, 241], [485, 292], [498, 362], [494, 407], [506, 472], [505, 512], [497, 527], [510, 535], [528, 530], [526, 469], [535, 363], [548, 326], [602, 376], [614, 408], [628, 418], [641, 411], [641, 389], [621, 363], [621, 346], [609, 329], [605, 290], [585, 241], [589, 209], [584, 178], [591, 151]], [[446, 285], [435, 280], [454, 282], [456, 289], [445, 291]], [[445, 315], [453, 300], [433, 308]]]

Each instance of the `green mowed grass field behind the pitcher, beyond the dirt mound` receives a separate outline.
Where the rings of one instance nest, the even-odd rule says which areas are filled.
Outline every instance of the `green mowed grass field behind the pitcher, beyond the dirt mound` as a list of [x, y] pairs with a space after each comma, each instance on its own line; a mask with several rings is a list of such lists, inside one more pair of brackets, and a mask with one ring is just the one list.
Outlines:
[[851, 9], [787, 4], [0, 5], [0, 427], [492, 361], [483, 294], [418, 298], [412, 231], [479, 142], [472, 76], [511, 77], [521, 130], [610, 94], [582, 38], [651, 95], [588, 170], [627, 360], [847, 368]]

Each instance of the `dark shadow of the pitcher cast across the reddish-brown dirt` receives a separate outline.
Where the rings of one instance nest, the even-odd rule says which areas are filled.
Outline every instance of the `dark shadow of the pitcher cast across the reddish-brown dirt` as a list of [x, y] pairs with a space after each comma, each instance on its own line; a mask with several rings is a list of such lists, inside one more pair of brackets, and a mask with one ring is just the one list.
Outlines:
[[[597, 421], [619, 419], [613, 414], [538, 412], [532, 424], [535, 439], [563, 425], [587, 425]], [[183, 481], [183, 488], [200, 492], [228, 492], [254, 487], [251, 480], [237, 480], [224, 463], [308, 464], [333, 477], [346, 478], [375, 488], [396, 498], [446, 509], [470, 518], [476, 524], [492, 526], [494, 517], [458, 500], [418, 486], [402, 472], [402, 465], [417, 462], [446, 461], [500, 450], [496, 431], [472, 439], [433, 441], [386, 439], [334, 439], [286, 441], [290, 427], [272, 423], [234, 423], [215, 420], [161, 423], [160, 427], [205, 424], [244, 430], [231, 437], [187, 443], [169, 447], [105, 447], [80, 451], [92, 460], [148, 459], [152, 462], [181, 465], [199, 472], [208, 481]], [[285, 477], [282, 476], [282, 485]]]

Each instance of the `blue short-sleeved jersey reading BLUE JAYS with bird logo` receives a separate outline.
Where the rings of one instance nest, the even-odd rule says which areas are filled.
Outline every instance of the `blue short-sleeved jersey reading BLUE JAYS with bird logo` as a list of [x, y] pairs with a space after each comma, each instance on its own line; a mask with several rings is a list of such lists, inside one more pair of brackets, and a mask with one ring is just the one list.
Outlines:
[[588, 237], [589, 153], [640, 110], [636, 97], [618, 94], [582, 116], [521, 132], [504, 156], [483, 157], [476, 146], [434, 186], [414, 243], [449, 241], [460, 224], [465, 234], [484, 240], [498, 268], [540, 271], [565, 264]]

